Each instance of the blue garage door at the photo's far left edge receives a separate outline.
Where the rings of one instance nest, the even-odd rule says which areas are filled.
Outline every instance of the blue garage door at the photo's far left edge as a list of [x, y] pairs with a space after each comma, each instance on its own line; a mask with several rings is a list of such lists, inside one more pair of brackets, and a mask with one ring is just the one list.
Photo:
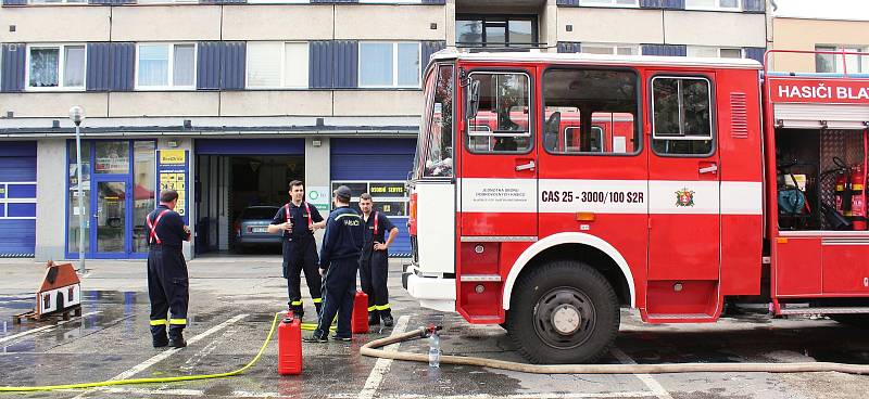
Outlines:
[[0, 142], [0, 258], [36, 247], [36, 143]]

